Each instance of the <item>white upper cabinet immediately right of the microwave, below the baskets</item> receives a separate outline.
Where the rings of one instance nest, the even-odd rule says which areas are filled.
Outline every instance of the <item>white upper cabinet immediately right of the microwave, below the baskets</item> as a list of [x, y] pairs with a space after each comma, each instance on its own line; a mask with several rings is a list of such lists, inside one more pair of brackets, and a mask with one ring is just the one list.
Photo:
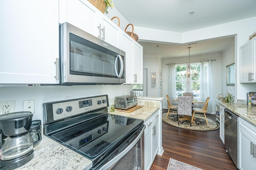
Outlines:
[[125, 52], [126, 83], [143, 84], [143, 47], [122, 32], [121, 50]]

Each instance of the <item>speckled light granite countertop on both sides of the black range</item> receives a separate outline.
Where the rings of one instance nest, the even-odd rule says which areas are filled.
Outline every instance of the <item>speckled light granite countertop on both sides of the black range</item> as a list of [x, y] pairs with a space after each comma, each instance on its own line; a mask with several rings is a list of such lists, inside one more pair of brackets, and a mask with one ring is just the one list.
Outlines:
[[[138, 105], [143, 106], [132, 113], [122, 111], [108, 112], [115, 115], [123, 115], [146, 121], [160, 108], [162, 98], [148, 97], [143, 99], [156, 100], [159, 102], [140, 101]], [[92, 167], [92, 161], [88, 158], [74, 152], [71, 149], [59, 144], [58, 142], [42, 135], [42, 141], [34, 147], [34, 157], [28, 163], [15, 168], [15, 170], [89, 170]], [[1, 170], [11, 170], [9, 166], [4, 166]]]

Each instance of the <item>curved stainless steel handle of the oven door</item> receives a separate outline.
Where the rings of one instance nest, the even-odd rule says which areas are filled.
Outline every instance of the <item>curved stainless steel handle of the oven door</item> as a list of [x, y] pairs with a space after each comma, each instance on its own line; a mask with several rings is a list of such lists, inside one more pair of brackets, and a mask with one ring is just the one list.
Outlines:
[[142, 128], [142, 130], [140, 131], [140, 134], [136, 137], [136, 139], [134, 139], [134, 141], [132, 141], [132, 143], [130, 143], [130, 145], [128, 145], [122, 152], [120, 152], [118, 155], [116, 155], [112, 160], [110, 160], [109, 162], [104, 164], [102, 167], [100, 167], [99, 170], [106, 170], [106, 169], [110, 168], [114, 163], [118, 162], [118, 160], [120, 158], [122, 158], [127, 152], [129, 152], [129, 150], [131, 150], [132, 147], [140, 140], [142, 135], [144, 135], [144, 129], [145, 129], [145, 125]]

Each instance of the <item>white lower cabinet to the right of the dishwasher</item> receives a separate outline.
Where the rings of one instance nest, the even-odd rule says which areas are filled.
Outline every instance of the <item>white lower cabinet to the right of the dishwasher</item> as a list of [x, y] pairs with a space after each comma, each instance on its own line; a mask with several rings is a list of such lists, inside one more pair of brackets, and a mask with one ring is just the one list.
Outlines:
[[242, 118], [238, 122], [238, 168], [255, 170], [256, 127]]

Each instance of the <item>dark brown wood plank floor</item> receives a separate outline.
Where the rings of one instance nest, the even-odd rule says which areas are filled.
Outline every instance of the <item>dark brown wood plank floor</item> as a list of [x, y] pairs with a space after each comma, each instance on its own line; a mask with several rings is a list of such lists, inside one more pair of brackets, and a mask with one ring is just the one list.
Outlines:
[[[163, 109], [163, 113], [167, 112]], [[207, 115], [215, 119], [215, 115]], [[166, 170], [170, 158], [203, 170], [238, 170], [220, 139], [220, 131], [191, 131], [162, 121], [162, 156], [156, 158], [150, 170]]]

